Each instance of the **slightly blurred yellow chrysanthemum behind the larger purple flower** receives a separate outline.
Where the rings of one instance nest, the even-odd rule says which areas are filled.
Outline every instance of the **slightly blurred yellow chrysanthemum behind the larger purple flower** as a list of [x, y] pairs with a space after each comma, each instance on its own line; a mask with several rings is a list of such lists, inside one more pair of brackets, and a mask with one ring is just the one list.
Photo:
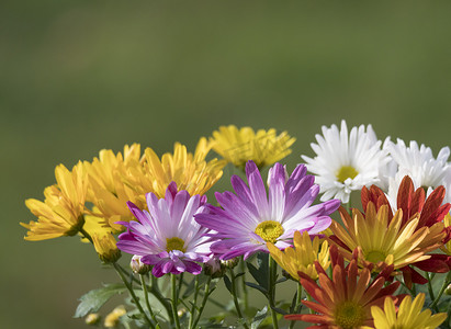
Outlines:
[[290, 155], [290, 146], [296, 139], [286, 132], [277, 135], [275, 129], [260, 129], [255, 133], [251, 127], [238, 131], [229, 125], [213, 132], [211, 140], [214, 143], [213, 150], [235, 167], [244, 168], [248, 160], [252, 160], [258, 168], [263, 168]]

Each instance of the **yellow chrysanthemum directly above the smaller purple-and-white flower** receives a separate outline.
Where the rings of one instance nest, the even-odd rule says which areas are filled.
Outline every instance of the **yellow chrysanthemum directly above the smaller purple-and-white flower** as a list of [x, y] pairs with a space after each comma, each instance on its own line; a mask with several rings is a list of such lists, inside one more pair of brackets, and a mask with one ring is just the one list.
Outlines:
[[204, 194], [223, 175], [226, 164], [225, 160], [217, 159], [206, 162], [210, 149], [211, 144], [204, 137], [199, 140], [194, 154], [176, 143], [173, 155], [165, 154], [161, 160], [151, 148], [146, 148], [143, 169], [131, 167], [126, 182], [142, 195], [153, 192], [158, 197], [164, 197], [172, 181], [177, 183], [179, 191], [187, 190], [190, 195]]

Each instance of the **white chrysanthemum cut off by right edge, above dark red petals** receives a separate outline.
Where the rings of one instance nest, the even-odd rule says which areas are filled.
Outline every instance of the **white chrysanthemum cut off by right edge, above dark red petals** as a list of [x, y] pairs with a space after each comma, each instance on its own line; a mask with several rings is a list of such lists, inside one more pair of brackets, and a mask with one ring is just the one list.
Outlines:
[[390, 152], [398, 166], [395, 177], [391, 178], [388, 183], [387, 196], [392, 205], [396, 204], [397, 191], [406, 174], [411, 178], [415, 189], [424, 188], [427, 195], [435, 188], [440, 185], [447, 188], [451, 183], [451, 166], [447, 162], [450, 157], [449, 147], [443, 147], [437, 159], [429, 147], [422, 144], [418, 147], [415, 140], [411, 140], [407, 147], [404, 140], [398, 138], [397, 144], [386, 143], [384, 149]]

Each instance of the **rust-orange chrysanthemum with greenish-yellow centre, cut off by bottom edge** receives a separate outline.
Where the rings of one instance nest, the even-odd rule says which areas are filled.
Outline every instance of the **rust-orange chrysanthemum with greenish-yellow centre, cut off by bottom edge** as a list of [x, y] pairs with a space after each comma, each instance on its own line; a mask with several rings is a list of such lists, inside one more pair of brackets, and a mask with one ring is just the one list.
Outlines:
[[[287, 320], [302, 320], [317, 326], [308, 328], [346, 328], [357, 329], [372, 326], [372, 306], [382, 306], [386, 296], [391, 296], [399, 286], [399, 282], [385, 285], [393, 265], [381, 272], [371, 281], [371, 270], [360, 271], [357, 260], [352, 260], [347, 268], [342, 257], [337, 254], [335, 246], [330, 247], [332, 261], [332, 280], [330, 280], [318, 262], [315, 262], [319, 275], [319, 285], [308, 275], [300, 272], [301, 284], [316, 300], [302, 303], [317, 314], [293, 314], [285, 316]], [[393, 297], [396, 298], [396, 297]]]

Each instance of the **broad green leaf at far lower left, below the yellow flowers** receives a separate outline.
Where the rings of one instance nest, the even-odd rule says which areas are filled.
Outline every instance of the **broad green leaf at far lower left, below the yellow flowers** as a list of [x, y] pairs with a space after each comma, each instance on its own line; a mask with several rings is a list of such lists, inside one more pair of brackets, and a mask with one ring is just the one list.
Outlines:
[[105, 284], [103, 287], [90, 291], [80, 297], [75, 318], [82, 318], [89, 313], [98, 311], [114, 295], [125, 291], [122, 283]]

